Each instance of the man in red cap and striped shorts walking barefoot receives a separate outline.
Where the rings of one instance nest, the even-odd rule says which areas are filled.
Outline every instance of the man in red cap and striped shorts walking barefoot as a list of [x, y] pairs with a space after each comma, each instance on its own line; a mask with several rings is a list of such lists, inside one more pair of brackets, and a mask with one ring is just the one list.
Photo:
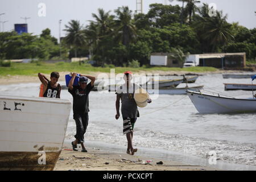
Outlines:
[[[134, 92], [139, 89], [140, 86], [137, 84], [131, 83], [132, 73], [127, 71], [124, 73], [123, 79], [125, 80], [125, 84], [119, 86], [117, 88], [117, 100], [115, 101], [115, 109], [117, 110], [117, 114], [115, 115], [115, 119], [120, 117], [119, 107], [120, 107], [120, 99], [122, 101], [121, 112], [123, 118], [123, 134], [126, 134], [127, 138], [127, 154], [134, 155], [137, 152], [137, 148], [133, 148], [133, 129], [134, 124], [139, 117], [139, 111], [137, 104], [134, 100]], [[148, 100], [150, 103], [151, 100]]]

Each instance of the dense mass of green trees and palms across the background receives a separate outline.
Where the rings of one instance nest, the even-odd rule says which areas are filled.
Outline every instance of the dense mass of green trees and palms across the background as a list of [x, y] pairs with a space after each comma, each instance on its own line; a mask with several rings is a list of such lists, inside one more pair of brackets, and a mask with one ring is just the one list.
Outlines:
[[185, 54], [246, 52], [247, 59], [255, 60], [256, 28], [249, 30], [229, 23], [222, 11], [209, 15], [209, 6], [200, 1], [177, 1], [184, 6], [154, 3], [147, 14], [134, 13], [127, 6], [113, 12], [98, 9], [86, 26], [70, 20], [61, 45], [49, 28], [40, 35], [0, 32], [0, 59], [49, 60], [90, 55], [96, 66], [126, 67], [136, 60], [142, 67], [149, 64], [151, 53], [180, 50]]

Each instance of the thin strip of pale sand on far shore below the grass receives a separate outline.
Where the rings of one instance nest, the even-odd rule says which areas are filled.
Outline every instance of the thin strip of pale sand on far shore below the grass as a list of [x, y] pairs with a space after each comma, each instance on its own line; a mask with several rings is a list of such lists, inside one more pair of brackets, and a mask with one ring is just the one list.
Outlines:
[[[207, 74], [218, 74], [218, 73], [244, 73], [247, 71], [234, 71], [234, 70], [218, 70], [215, 72], [183, 72], [183, 71], [139, 71], [135, 72], [138, 74], [143, 73], [158, 73], [159, 76], [172, 76], [172, 75], [207, 75]], [[69, 72], [59, 72], [60, 78], [59, 81], [65, 81], [65, 75], [69, 74]], [[97, 78], [97, 76], [104, 72], [88, 72], [86, 74], [92, 75]], [[110, 73], [105, 73], [110, 76]], [[49, 75], [46, 75], [49, 78]], [[11, 84], [20, 84], [20, 83], [40, 83], [40, 80], [37, 76], [24, 76], [24, 75], [7, 75], [7, 76], [0, 76], [0, 85], [11, 85]]]

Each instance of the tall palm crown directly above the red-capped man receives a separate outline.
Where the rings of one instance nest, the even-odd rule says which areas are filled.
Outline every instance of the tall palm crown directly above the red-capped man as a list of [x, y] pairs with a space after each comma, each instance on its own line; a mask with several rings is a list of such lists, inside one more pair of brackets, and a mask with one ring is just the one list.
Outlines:
[[132, 19], [132, 11], [128, 6], [118, 7], [115, 10], [117, 20], [115, 20], [117, 36], [122, 40], [124, 46], [128, 46], [131, 40], [137, 36], [136, 27]]

